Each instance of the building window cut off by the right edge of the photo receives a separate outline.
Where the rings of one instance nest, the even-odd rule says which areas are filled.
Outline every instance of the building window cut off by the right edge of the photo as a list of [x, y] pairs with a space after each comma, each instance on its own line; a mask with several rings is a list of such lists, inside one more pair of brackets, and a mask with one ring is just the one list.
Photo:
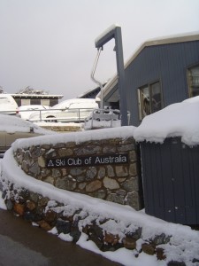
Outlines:
[[199, 66], [188, 69], [188, 90], [189, 97], [199, 95]]

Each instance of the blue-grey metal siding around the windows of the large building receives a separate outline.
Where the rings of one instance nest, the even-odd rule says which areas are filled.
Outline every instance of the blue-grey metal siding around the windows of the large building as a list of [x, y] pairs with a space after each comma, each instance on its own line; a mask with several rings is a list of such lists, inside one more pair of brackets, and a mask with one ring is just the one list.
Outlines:
[[137, 89], [160, 80], [164, 106], [188, 98], [187, 69], [199, 63], [199, 41], [145, 47], [126, 67], [126, 100], [131, 124], [140, 124]]

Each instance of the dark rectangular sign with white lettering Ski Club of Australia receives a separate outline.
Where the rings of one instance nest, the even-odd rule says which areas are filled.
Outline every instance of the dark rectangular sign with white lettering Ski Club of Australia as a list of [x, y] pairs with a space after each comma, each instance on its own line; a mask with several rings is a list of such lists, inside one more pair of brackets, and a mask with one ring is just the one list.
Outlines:
[[126, 163], [128, 163], [128, 153], [119, 153], [95, 156], [51, 158], [46, 160], [46, 167], [65, 168]]

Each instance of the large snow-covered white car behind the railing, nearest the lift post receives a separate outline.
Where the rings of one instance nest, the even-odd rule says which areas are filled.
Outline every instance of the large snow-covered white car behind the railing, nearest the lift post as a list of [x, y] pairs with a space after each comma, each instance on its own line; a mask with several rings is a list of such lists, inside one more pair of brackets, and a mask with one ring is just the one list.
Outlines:
[[80, 122], [85, 121], [96, 108], [98, 104], [93, 98], [73, 98], [52, 106], [50, 110], [41, 112], [41, 115], [32, 113], [29, 121]]

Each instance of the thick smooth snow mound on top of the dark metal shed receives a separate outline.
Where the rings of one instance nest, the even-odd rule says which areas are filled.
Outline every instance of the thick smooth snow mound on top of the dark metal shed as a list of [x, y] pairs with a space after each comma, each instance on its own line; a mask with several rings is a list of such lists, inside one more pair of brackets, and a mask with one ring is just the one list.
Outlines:
[[166, 137], [181, 137], [186, 145], [199, 144], [199, 97], [172, 104], [146, 116], [134, 130], [137, 142], [163, 143]]

